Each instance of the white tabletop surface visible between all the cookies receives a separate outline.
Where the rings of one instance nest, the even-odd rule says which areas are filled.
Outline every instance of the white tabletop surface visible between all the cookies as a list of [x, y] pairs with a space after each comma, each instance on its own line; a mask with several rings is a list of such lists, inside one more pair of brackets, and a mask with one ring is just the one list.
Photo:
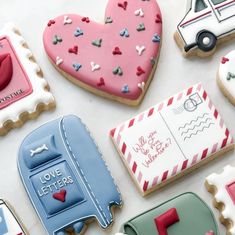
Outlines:
[[[204, 188], [205, 177], [212, 172], [221, 171], [226, 164], [235, 165], [234, 153], [226, 154], [224, 158], [211, 162], [147, 198], [142, 198], [109, 139], [111, 128], [198, 82], [203, 83], [231, 132], [235, 133], [234, 107], [221, 94], [215, 80], [220, 58], [234, 49], [235, 40], [222, 45], [213, 57], [184, 59], [173, 40], [173, 33], [185, 14], [186, 0], [158, 1], [164, 23], [158, 69], [143, 103], [138, 108], [132, 108], [97, 97], [74, 86], [55, 71], [43, 49], [42, 34], [49, 19], [65, 13], [78, 13], [102, 22], [108, 0], [1, 0], [0, 26], [8, 21], [18, 25], [57, 100], [55, 111], [43, 113], [37, 120], [27, 122], [21, 129], [13, 130], [0, 139], [0, 197], [14, 206], [30, 234], [43, 235], [46, 232], [20, 181], [16, 165], [18, 148], [29, 132], [61, 115], [76, 114], [87, 124], [123, 195], [124, 206], [121, 210], [116, 210], [114, 226], [104, 232], [93, 223], [86, 232], [88, 235], [115, 234], [126, 220], [185, 191], [198, 193], [211, 206], [211, 196]], [[218, 212], [214, 212], [218, 219]], [[220, 224], [219, 227], [221, 234], [225, 234], [224, 227]]]

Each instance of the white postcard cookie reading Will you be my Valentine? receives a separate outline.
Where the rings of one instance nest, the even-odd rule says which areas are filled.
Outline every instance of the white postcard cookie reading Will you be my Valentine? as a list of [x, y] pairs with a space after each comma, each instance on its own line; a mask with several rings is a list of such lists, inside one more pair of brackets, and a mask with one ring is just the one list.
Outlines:
[[234, 147], [201, 84], [122, 123], [111, 137], [143, 195]]

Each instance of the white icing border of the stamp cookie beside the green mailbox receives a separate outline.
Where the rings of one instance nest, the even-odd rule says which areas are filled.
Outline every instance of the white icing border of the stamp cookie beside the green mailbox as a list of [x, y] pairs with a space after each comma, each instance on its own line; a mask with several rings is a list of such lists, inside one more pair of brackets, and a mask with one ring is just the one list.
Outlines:
[[209, 186], [215, 186], [217, 191], [214, 195], [216, 203], [223, 203], [224, 209], [221, 211], [224, 219], [232, 222], [232, 227], [229, 229], [231, 235], [235, 235], [235, 204], [230, 197], [226, 185], [235, 182], [235, 167], [226, 166], [221, 174], [213, 173], [206, 178]]

